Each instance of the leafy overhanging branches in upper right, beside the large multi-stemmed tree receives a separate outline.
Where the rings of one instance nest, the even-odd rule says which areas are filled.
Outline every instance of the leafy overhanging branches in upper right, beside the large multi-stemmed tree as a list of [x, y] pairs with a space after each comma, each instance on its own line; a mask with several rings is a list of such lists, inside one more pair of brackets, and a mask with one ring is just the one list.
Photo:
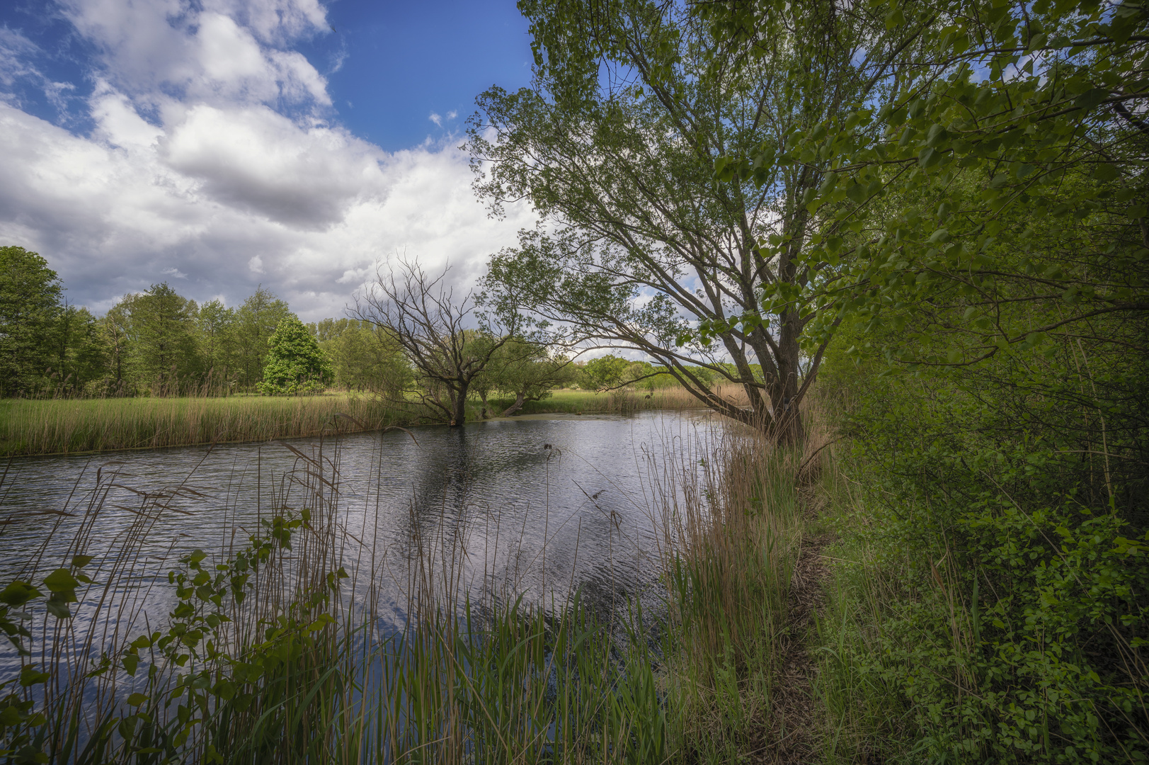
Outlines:
[[[1149, 92], [1144, 9], [980, 0], [865, 7], [923, 53], [889, 98], [791, 131], [782, 147], [763, 144], [716, 163], [723, 179], [753, 179], [768, 161], [831, 166], [803, 197], [818, 220], [801, 258], [817, 275], [813, 289], [772, 285], [768, 308], [809, 312], [811, 342], [819, 342], [843, 319], [896, 329], [903, 306], [964, 303], [953, 323], [965, 342], [932, 357], [892, 354], [908, 364], [967, 364], [1040, 344], [1078, 318], [1143, 311], [1146, 128], [1124, 104]], [[1075, 246], [1063, 237], [1049, 247], [1047, 227], [1075, 229]], [[762, 254], [792, 244], [771, 238]], [[1061, 315], [1024, 327], [995, 322], [1018, 289]]]

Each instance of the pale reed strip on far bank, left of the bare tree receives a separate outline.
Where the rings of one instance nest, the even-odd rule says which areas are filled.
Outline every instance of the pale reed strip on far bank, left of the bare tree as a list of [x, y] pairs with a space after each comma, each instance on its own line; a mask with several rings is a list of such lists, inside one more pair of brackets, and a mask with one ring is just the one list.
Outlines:
[[155, 449], [317, 436], [336, 414], [361, 429], [411, 422], [410, 413], [354, 395], [226, 398], [0, 400], [0, 454]]

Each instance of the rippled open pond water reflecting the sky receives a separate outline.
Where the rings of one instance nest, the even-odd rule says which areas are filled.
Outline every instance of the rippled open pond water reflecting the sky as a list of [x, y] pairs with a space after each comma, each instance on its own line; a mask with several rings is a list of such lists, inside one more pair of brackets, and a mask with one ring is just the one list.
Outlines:
[[[292, 449], [309, 456], [322, 449], [338, 466], [345, 563], [352, 569], [371, 559], [377, 597], [394, 625], [404, 618], [416, 538], [453, 535], [462, 540], [464, 587], [498, 575], [538, 603], [581, 589], [609, 610], [657, 575], [665, 471], [696, 465], [715, 427], [703, 412], [527, 415], [352, 434], [322, 445], [288, 439], [15, 459], [0, 484], [0, 582], [26, 574], [34, 558], [43, 575], [74, 552], [94, 556], [99, 571], [139, 536], [149, 492], [169, 497], [136, 538], [137, 559], [153, 573], [188, 550], [242, 543], [284, 475], [299, 467]], [[138, 613], [153, 624], [162, 618], [170, 589], [153, 576]]]

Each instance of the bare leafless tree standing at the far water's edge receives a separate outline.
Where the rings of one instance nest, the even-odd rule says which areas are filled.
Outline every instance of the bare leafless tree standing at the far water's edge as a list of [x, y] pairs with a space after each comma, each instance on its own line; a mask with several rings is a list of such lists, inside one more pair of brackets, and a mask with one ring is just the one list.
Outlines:
[[380, 265], [375, 284], [356, 297], [352, 314], [395, 338], [423, 383], [423, 403], [460, 426], [471, 381], [516, 335], [520, 320], [516, 312], [477, 311], [471, 290], [456, 301], [454, 289], [444, 283], [448, 270], [449, 265], [431, 277], [418, 262], [400, 260], [386, 271]]

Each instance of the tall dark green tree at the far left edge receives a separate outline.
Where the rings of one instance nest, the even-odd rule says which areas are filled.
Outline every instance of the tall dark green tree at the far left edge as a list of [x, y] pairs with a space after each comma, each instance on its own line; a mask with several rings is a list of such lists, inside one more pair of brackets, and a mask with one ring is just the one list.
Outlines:
[[0, 395], [31, 392], [52, 365], [62, 289], [39, 254], [0, 247]]

